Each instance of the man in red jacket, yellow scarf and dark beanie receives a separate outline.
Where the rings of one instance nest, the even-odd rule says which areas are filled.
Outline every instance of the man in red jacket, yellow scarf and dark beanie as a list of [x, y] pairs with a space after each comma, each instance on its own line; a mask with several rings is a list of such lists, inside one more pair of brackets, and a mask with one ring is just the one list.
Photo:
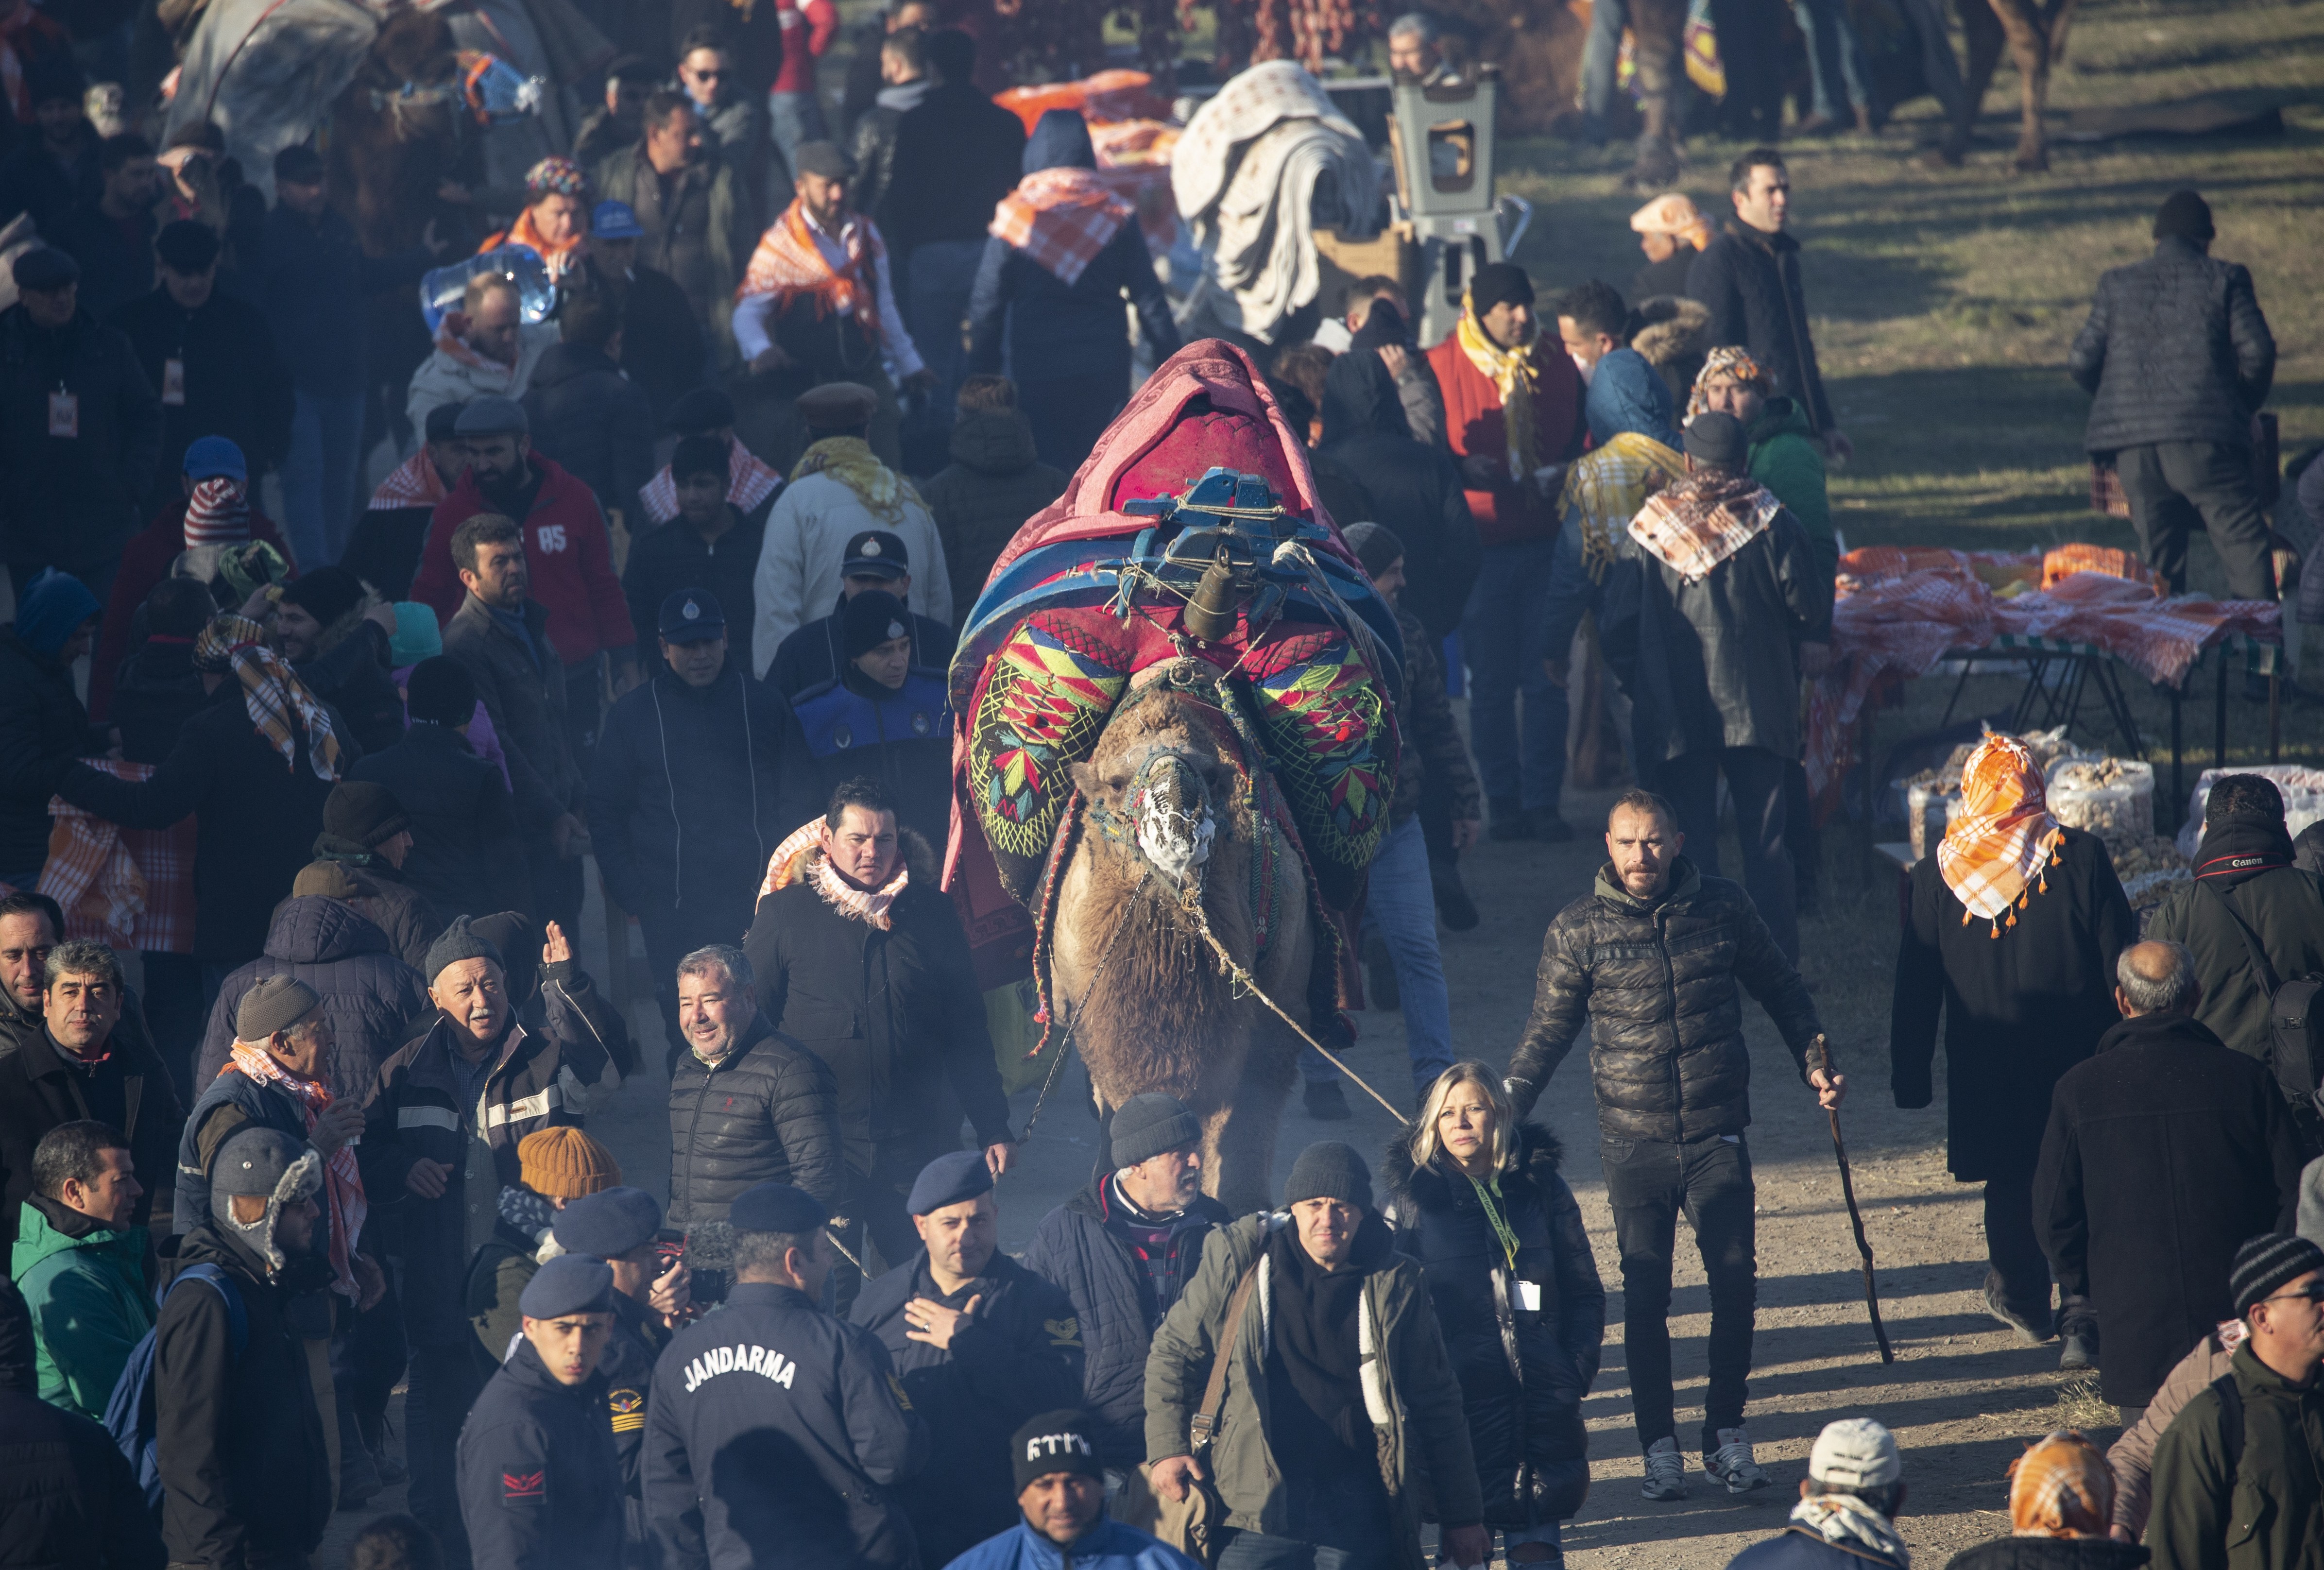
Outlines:
[[[1569, 841], [1566, 690], [1550, 678], [1550, 562], [1564, 464], [1580, 455], [1583, 379], [1534, 318], [1534, 283], [1515, 262], [1480, 267], [1459, 325], [1429, 351], [1446, 395], [1446, 441], [1459, 460], [1485, 564], [1462, 618], [1469, 743], [1485, 780], [1492, 838]], [[1513, 418], [1515, 416], [1515, 418]], [[1518, 694], [1525, 722], [1518, 722]]]

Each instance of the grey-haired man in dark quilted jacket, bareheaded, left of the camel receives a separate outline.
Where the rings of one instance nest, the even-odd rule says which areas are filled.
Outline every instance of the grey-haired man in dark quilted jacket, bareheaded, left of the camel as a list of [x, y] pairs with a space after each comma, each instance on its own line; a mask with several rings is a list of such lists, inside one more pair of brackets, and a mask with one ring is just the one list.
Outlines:
[[839, 1198], [839, 1089], [820, 1057], [758, 1008], [751, 962], [725, 943], [679, 962], [686, 1052], [669, 1066], [669, 1226], [723, 1222], [760, 1182]]

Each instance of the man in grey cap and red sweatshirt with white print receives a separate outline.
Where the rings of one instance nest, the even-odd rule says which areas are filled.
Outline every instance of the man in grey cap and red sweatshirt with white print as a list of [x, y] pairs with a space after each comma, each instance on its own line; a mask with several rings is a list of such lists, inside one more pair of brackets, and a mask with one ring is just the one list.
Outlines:
[[411, 597], [449, 622], [460, 608], [460, 574], [451, 536], [476, 513], [516, 518], [525, 534], [532, 599], [548, 611], [548, 641], [565, 660], [565, 727], [583, 778], [597, 746], [604, 662], [614, 662], [614, 697], [639, 683], [637, 629], [614, 571], [614, 539], [590, 488], [532, 451], [525, 406], [511, 397], [476, 397], [453, 427], [467, 446], [467, 474], [437, 502], [421, 548]]

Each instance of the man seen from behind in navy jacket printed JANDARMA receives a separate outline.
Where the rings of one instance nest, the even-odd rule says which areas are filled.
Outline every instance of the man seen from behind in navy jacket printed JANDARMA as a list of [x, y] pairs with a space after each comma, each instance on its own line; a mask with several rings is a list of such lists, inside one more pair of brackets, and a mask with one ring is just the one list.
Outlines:
[[816, 1308], [830, 1212], [786, 1182], [727, 1210], [734, 1287], [653, 1366], [646, 1517], [679, 1565], [918, 1570], [897, 1484], [927, 1428], [878, 1338]]

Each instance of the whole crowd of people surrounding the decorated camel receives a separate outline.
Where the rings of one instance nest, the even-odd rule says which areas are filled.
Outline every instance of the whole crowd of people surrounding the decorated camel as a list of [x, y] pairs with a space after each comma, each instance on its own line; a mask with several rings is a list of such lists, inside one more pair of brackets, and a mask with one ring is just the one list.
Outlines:
[[[360, 304], [467, 246], [367, 253], [309, 142], [270, 202], [216, 128], [98, 135], [70, 56], [9, 77], [0, 1558], [297, 1570], [409, 1479], [351, 1563], [1360, 1570], [1425, 1563], [1425, 1524], [1443, 1563], [1562, 1563], [1606, 1289], [1529, 1115], [1583, 1029], [1641, 1491], [1683, 1498], [1690, 1449], [1771, 1486], [1743, 996], [1815, 1103], [1848, 1092], [1801, 973], [1799, 757], [1852, 448], [1783, 156], [1734, 163], [1717, 232], [1648, 202], [1627, 290], [1490, 262], [1439, 344], [1392, 276], [1311, 334], [1229, 332], [1404, 641], [1362, 962], [1415, 1112], [1236, 1217], [1199, 1119], [1134, 1096], [1013, 1259], [1020, 1136], [944, 890], [946, 671], [1181, 321], [1083, 116], [1027, 132], [930, 0], [862, 42], [837, 132], [827, 0], [693, 9], [521, 195], [460, 190], [553, 309], [474, 269], [386, 411]], [[1799, 9], [1817, 114], [1862, 121], [1845, 7]], [[1434, 70], [1434, 30], [1390, 42]], [[2089, 448], [2166, 585], [2201, 523], [2273, 599], [2273, 341], [2201, 197], [2154, 237], [2073, 346]], [[1490, 1068], [1439, 920], [1480, 922], [1483, 841], [1576, 838], [1585, 660], [1641, 787]], [[1913, 871], [1896, 1103], [1934, 1101], [1943, 1027], [1985, 1303], [2099, 1368], [2126, 1428], [2033, 1447], [2013, 1524], [2061, 1547], [1980, 1565], [2289, 1570], [2324, 1528], [2319, 1126], [2268, 1068], [2324, 880], [2257, 776], [2215, 783], [2196, 864], [2140, 934], [1989, 739]], [[586, 1126], [639, 1073], [574, 952], [588, 869], [669, 1043], [667, 1205]], [[135, 987], [98, 910], [137, 915]], [[1350, 1117], [1320, 1052], [1301, 1080]], [[1680, 1215], [1710, 1282], [1692, 1447]], [[1894, 1438], [1838, 1421], [1743, 1558], [1906, 1570], [1903, 1503]]]

